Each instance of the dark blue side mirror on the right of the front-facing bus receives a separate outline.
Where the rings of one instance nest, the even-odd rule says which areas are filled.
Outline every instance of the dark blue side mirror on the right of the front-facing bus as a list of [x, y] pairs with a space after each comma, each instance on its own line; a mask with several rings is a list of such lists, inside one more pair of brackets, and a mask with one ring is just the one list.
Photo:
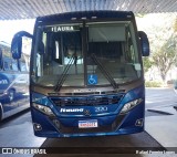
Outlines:
[[142, 55], [149, 56], [149, 42], [145, 32], [138, 31], [138, 38], [140, 41]]

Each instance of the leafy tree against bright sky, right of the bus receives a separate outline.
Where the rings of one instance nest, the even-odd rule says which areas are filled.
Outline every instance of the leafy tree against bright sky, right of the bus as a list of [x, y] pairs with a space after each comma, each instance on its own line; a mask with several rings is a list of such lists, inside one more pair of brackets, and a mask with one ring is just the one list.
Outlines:
[[[159, 70], [162, 80], [166, 81], [167, 72], [177, 66], [177, 18], [174, 13], [149, 13], [136, 18], [138, 30], [147, 33], [150, 45], [149, 59], [144, 57], [144, 71]], [[148, 21], [148, 22], [147, 22]], [[157, 74], [157, 73], [156, 73]]]

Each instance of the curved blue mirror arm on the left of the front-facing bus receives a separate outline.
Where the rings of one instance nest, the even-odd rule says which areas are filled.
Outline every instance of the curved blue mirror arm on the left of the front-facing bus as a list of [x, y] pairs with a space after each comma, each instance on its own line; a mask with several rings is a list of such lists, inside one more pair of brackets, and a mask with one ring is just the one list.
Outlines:
[[27, 36], [32, 39], [32, 34], [25, 32], [25, 31], [20, 31], [14, 34], [12, 42], [11, 42], [11, 53], [12, 57], [14, 60], [21, 59], [21, 52], [22, 52], [22, 38]]

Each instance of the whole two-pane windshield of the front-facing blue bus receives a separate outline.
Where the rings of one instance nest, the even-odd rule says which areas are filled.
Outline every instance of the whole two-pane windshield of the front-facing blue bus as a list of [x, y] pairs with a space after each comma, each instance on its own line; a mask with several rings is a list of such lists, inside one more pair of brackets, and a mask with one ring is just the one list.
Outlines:
[[131, 21], [39, 25], [32, 81], [63, 87], [136, 81], [142, 64], [135, 36]]

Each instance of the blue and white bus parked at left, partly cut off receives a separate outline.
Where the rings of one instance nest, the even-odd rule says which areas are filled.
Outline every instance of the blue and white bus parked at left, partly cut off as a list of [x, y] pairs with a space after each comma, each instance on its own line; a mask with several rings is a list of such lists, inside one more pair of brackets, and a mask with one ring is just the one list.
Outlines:
[[0, 42], [0, 119], [30, 107], [28, 60], [14, 60], [10, 45]]

